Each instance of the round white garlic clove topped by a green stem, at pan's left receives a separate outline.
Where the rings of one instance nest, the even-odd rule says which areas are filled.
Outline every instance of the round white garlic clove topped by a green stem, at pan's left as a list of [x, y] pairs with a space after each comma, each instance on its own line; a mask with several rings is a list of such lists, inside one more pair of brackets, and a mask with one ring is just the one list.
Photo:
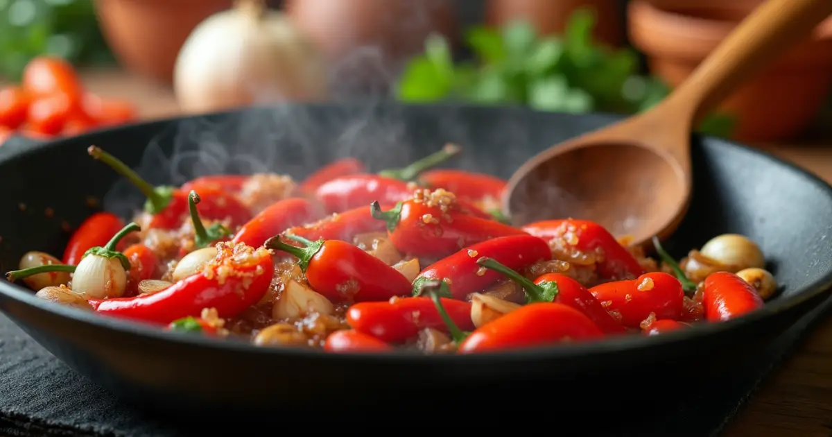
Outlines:
[[84, 256], [72, 276], [72, 290], [89, 299], [121, 297], [127, 287], [127, 273], [116, 257]]

